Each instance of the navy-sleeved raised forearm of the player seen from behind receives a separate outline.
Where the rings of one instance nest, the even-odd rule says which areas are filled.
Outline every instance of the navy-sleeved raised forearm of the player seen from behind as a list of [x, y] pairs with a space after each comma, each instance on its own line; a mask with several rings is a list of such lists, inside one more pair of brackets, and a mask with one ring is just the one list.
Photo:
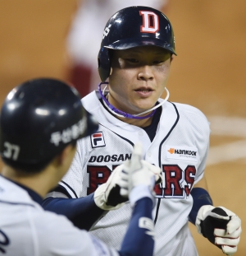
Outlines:
[[135, 203], [129, 228], [121, 245], [121, 256], [153, 255], [153, 201], [150, 198], [141, 198]]

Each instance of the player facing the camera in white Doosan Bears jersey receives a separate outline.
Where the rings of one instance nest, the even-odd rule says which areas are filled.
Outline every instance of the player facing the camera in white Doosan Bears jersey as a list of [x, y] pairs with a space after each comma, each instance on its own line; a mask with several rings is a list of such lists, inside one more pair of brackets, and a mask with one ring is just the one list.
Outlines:
[[[132, 147], [141, 141], [144, 159], [159, 166], [163, 176], [162, 184], [155, 188], [154, 254], [198, 255], [189, 231], [191, 221], [212, 244], [232, 255], [239, 244], [241, 221], [225, 207], [213, 207], [207, 192], [204, 169], [209, 123], [198, 109], [167, 101], [166, 82], [173, 55], [175, 37], [162, 12], [127, 7], [107, 21], [98, 54], [103, 82], [98, 91], [82, 100], [84, 108], [98, 119], [98, 132], [78, 142], [71, 169], [43, 205], [66, 215], [76, 212], [69, 200], [58, 203], [61, 193], [67, 198], [93, 193], [114, 174], [117, 165], [130, 158]], [[160, 98], [163, 92], [165, 99]], [[130, 213], [126, 202], [103, 216], [91, 233], [120, 248]]]

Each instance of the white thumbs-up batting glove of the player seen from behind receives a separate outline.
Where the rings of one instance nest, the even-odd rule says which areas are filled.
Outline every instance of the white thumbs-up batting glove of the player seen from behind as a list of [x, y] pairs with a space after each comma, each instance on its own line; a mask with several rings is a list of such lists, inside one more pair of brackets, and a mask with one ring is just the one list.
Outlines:
[[[154, 185], [162, 182], [161, 169], [141, 159], [142, 146], [136, 144], [130, 161], [125, 161], [122, 166], [121, 195], [125, 198], [130, 197], [132, 204], [150, 194], [148, 192], [148, 195], [144, 193], [144, 191], [147, 191], [144, 187], [149, 189], [152, 195], [151, 198], [155, 202], [153, 198]], [[132, 193], [133, 190], [136, 191], [136, 188], [138, 188], [139, 193]]]

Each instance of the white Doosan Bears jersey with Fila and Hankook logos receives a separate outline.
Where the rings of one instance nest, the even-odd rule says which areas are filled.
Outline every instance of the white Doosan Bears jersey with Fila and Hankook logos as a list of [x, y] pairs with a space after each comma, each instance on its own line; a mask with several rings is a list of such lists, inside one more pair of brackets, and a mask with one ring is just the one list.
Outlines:
[[[159, 99], [158, 101], [162, 101]], [[166, 102], [153, 141], [143, 128], [122, 122], [103, 107], [93, 91], [82, 99], [84, 108], [98, 119], [99, 129], [78, 141], [71, 168], [60, 183], [71, 198], [93, 193], [123, 161], [130, 159], [136, 142], [142, 142], [144, 160], [162, 169], [153, 209], [155, 255], [198, 255], [188, 227], [193, 206], [190, 191], [203, 178], [210, 128], [203, 113], [190, 106]], [[128, 222], [130, 203], [108, 212], [91, 233], [119, 249]]]

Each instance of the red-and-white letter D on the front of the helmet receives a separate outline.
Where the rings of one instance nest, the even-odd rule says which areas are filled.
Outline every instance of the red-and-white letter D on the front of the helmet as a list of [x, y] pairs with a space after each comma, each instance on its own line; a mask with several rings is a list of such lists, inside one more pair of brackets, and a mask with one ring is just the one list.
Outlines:
[[159, 30], [159, 17], [154, 12], [139, 11], [143, 16], [143, 26], [140, 31], [143, 33], [156, 33]]

